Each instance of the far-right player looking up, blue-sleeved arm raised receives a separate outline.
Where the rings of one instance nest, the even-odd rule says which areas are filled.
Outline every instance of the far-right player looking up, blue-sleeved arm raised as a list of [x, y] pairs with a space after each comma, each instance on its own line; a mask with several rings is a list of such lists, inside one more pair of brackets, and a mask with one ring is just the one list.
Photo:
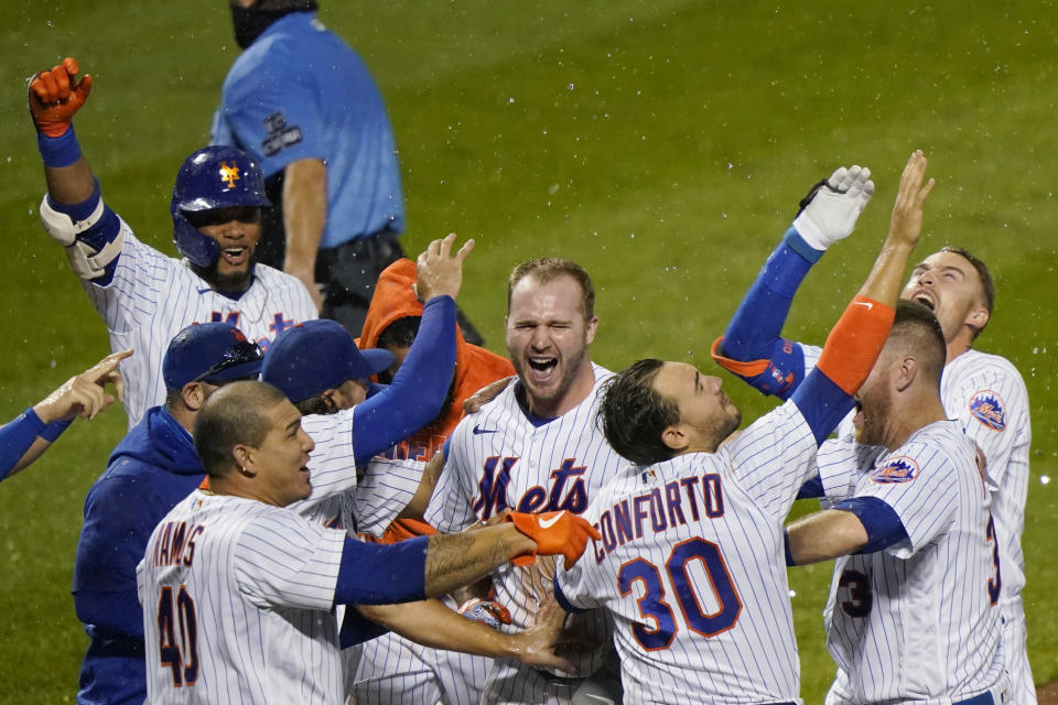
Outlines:
[[[764, 393], [786, 399], [819, 355], [818, 347], [780, 337], [794, 294], [818, 259], [811, 252], [797, 257], [788, 249], [777, 249], [746, 293], [725, 336], [713, 346], [721, 365]], [[902, 296], [932, 310], [944, 334], [944, 410], [978, 444], [993, 491], [992, 513], [1003, 565], [1004, 653], [1012, 692], [1018, 703], [1035, 703], [1021, 598], [1025, 585], [1021, 536], [1032, 442], [1028, 395], [1013, 365], [971, 347], [991, 319], [995, 286], [981, 260], [960, 248], [943, 248], [915, 265]], [[851, 420], [842, 423], [840, 435], [851, 435]], [[802, 496], [820, 492], [813, 481]]]

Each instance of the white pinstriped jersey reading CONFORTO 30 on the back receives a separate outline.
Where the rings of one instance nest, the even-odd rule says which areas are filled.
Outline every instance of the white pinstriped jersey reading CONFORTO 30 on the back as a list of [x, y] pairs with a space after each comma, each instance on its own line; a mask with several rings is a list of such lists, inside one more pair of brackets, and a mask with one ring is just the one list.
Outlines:
[[788, 401], [715, 454], [626, 468], [592, 499], [603, 540], [558, 583], [614, 614], [627, 702], [800, 702], [782, 522], [814, 457]]

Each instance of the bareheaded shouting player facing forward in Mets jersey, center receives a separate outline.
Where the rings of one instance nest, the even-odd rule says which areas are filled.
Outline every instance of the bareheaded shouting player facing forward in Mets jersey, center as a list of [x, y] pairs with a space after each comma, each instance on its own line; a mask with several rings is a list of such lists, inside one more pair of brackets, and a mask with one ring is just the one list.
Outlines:
[[[611, 372], [593, 365], [589, 346], [598, 319], [587, 273], [561, 259], [531, 260], [508, 283], [507, 351], [518, 382], [450, 437], [447, 463], [427, 512], [438, 531], [462, 531], [504, 509], [581, 514], [620, 466], [595, 424], [596, 391]], [[515, 631], [532, 623], [551, 597], [553, 566], [508, 565], [493, 574], [496, 601]], [[600, 644], [571, 654], [577, 675], [591, 675], [612, 652], [611, 625], [601, 612], [577, 616], [574, 629]], [[497, 660], [484, 702], [565, 703], [580, 679]]]

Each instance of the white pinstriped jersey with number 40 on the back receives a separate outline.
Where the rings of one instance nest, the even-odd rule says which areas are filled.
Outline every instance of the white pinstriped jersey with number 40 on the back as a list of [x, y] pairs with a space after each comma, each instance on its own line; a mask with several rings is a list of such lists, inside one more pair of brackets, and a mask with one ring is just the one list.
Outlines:
[[331, 609], [345, 532], [195, 490], [137, 570], [148, 702], [343, 703]]

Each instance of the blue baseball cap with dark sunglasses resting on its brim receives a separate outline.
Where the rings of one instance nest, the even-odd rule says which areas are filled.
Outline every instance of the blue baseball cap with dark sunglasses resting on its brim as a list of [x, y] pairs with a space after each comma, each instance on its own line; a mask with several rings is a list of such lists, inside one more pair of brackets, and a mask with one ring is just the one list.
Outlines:
[[264, 352], [230, 323], [193, 323], [176, 334], [162, 360], [165, 391], [188, 382], [217, 384], [255, 377]]

